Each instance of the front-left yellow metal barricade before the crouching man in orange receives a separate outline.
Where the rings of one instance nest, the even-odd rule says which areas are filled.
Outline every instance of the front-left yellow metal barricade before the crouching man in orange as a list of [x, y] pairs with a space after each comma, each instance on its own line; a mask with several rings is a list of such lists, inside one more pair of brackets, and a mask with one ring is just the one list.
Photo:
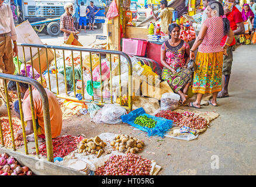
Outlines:
[[[11, 114], [11, 106], [10, 106], [10, 103], [9, 103], [9, 94], [8, 94], [8, 88], [7, 88], [7, 81], [15, 81], [16, 82], [17, 94], [18, 94], [18, 99], [19, 99], [20, 121], [22, 123], [23, 141], [24, 141], [25, 153], [26, 154], [29, 154], [29, 151], [28, 151], [28, 148], [27, 148], [25, 122], [24, 122], [24, 116], [23, 116], [23, 110], [22, 110], [22, 101], [21, 101], [21, 96], [20, 96], [19, 83], [23, 82], [23, 83], [29, 85], [28, 89], [29, 89], [29, 95], [30, 95], [30, 105], [31, 105], [31, 111], [32, 111], [34, 140], [35, 140], [35, 144], [36, 144], [36, 154], [37, 155], [39, 155], [39, 145], [38, 145], [38, 140], [37, 140], [36, 117], [35, 117], [35, 113], [34, 113], [34, 102], [33, 102], [32, 86], [34, 88], [36, 88], [37, 91], [39, 91], [41, 99], [42, 99], [42, 103], [43, 103], [42, 107], [43, 107], [44, 131], [45, 131], [45, 137], [46, 137], [47, 160], [53, 162], [53, 143], [52, 143], [52, 139], [51, 139], [49, 101], [48, 101], [47, 93], [44, 90], [43, 86], [34, 79], [27, 78], [27, 77], [20, 77], [20, 76], [17, 76], [17, 75], [9, 75], [9, 74], [0, 73], [0, 78], [4, 79], [6, 106], [7, 106], [7, 110], [8, 110], [8, 117], [9, 117], [10, 131], [11, 131], [11, 137], [12, 137], [13, 151], [16, 151], [16, 146], [15, 146], [15, 137], [14, 137], [14, 134], [13, 134], [12, 114]], [[4, 142], [4, 134], [2, 133], [1, 119], [0, 119], [0, 137], [1, 137], [2, 147], [4, 147], [5, 142]], [[8, 147], [6, 147], [6, 148], [8, 148]]]

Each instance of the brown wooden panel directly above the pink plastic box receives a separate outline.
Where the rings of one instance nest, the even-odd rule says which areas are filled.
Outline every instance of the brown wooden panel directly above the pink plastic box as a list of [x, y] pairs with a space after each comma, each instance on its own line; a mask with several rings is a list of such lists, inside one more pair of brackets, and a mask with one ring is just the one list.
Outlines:
[[143, 27], [126, 26], [124, 37], [126, 39], [137, 38], [147, 40], [148, 29]]

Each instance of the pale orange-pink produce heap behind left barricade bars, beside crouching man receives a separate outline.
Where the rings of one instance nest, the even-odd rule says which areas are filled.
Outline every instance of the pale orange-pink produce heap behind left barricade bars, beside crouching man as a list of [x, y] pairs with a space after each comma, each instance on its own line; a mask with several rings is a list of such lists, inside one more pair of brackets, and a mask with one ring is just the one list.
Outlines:
[[[5, 146], [12, 148], [12, 136], [11, 136], [11, 130], [10, 130], [10, 123], [8, 118], [2, 118], [2, 133], [4, 136], [4, 142]], [[22, 129], [20, 120], [17, 117], [12, 117], [12, 128], [13, 128], [13, 135], [17, 134], [17, 132]], [[1, 140], [0, 140], [1, 143]], [[15, 146], [19, 147], [24, 144], [23, 139], [21, 140], [15, 140]]]

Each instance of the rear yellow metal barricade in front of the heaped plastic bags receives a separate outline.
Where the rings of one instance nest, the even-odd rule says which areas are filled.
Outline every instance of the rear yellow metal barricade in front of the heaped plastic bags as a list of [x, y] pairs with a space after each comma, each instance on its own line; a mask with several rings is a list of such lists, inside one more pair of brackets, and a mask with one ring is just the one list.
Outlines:
[[[84, 49], [81, 47], [65, 47], [65, 46], [49, 46], [49, 45], [39, 45], [39, 44], [18, 44], [18, 46], [21, 46], [23, 49], [23, 60], [25, 61], [25, 66], [26, 66], [26, 59], [25, 59], [25, 47], [29, 47], [30, 49], [30, 58], [31, 58], [31, 65], [33, 67], [33, 57], [32, 57], [32, 49], [36, 48], [37, 49], [37, 54], [38, 54], [38, 60], [39, 60], [39, 67], [41, 67], [41, 61], [40, 61], [40, 49], [46, 49], [46, 59], [47, 59], [47, 71], [48, 71], [48, 79], [49, 82], [47, 82], [47, 86], [51, 91], [51, 81], [50, 81], [50, 72], [49, 72], [49, 66], [50, 62], [48, 61], [48, 53], [47, 49], [51, 49], [54, 52], [54, 65], [56, 68], [56, 85], [57, 85], [57, 93], [56, 96], [58, 98], [63, 98], [63, 99], [69, 99], [71, 101], [81, 101], [81, 102], [91, 102], [95, 103], [96, 105], [104, 105], [105, 103], [113, 103], [113, 91], [112, 91], [112, 58], [113, 56], [118, 56], [118, 67], [119, 67], [119, 98], [120, 102], [119, 104], [126, 108], [127, 110], [132, 111], [132, 61], [130, 60], [130, 57], [126, 54], [123, 53], [122, 51], [112, 51], [112, 50], [96, 50], [96, 49]], [[57, 72], [57, 62], [56, 62], [56, 50], [62, 51], [62, 57], [63, 57], [63, 67], [64, 67], [64, 79], [65, 79], [65, 93], [66, 95], [60, 95], [59, 93], [59, 84], [58, 84], [58, 72]], [[65, 51], [71, 51], [71, 61], [72, 61], [72, 79], [73, 79], [73, 88], [74, 88], [74, 96], [68, 96], [68, 88], [67, 88], [67, 75], [66, 75], [66, 65], [65, 65]], [[76, 97], [76, 82], [75, 82], [75, 66], [74, 66], [74, 51], [79, 52], [79, 58], [80, 58], [80, 68], [81, 68], [81, 81], [82, 81], [82, 99], [78, 100]], [[20, 51], [19, 51], [20, 52]], [[99, 54], [99, 68], [100, 68], [100, 77], [102, 80], [102, 56], [103, 55], [109, 55], [109, 70], [110, 70], [110, 81], [108, 82], [109, 87], [110, 87], [110, 102], [105, 102], [103, 101], [103, 93], [102, 93], [102, 88], [103, 88], [103, 82], [101, 81], [101, 99], [100, 101], [96, 101], [94, 96], [92, 96], [92, 99], [85, 99], [85, 90], [84, 90], [84, 77], [83, 77], [83, 62], [82, 62], [82, 52], [88, 52], [89, 53], [89, 64], [90, 64], [90, 74], [91, 74], [91, 86], [94, 91], [94, 86], [93, 86], [93, 76], [92, 76], [92, 54]], [[122, 86], [121, 86], [121, 56], [126, 58], [127, 60], [127, 65], [128, 65], [128, 93], [127, 93], [127, 103], [128, 106], [122, 105]], [[33, 69], [33, 68], [32, 68]], [[26, 71], [26, 68], [25, 68]], [[20, 67], [19, 67], [19, 72], [20, 72]], [[40, 68], [40, 82], [42, 84], [42, 72]], [[27, 72], [26, 72], [27, 74]], [[34, 76], [34, 72], [33, 72]], [[117, 96], [116, 96], [117, 98]]]

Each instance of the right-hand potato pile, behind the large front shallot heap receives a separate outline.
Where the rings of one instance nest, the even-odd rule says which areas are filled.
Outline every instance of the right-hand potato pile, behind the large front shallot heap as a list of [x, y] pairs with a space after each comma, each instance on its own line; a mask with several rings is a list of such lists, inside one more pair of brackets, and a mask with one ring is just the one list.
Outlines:
[[115, 140], [110, 142], [110, 145], [118, 151], [125, 151], [127, 154], [141, 151], [144, 147], [144, 142], [132, 136], [122, 134], [116, 136]]

